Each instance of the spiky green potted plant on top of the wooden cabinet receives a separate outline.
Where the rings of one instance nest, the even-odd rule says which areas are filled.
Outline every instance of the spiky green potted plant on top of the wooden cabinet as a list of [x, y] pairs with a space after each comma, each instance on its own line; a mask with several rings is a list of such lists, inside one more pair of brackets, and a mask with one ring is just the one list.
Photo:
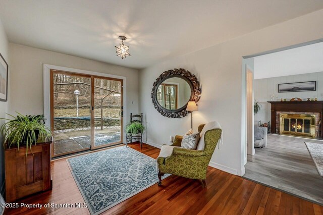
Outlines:
[[0, 128], [0, 132], [5, 138], [5, 144], [8, 144], [10, 148], [12, 145], [17, 145], [19, 150], [20, 145], [26, 145], [26, 154], [28, 152], [28, 147], [31, 150], [32, 145], [36, 145], [38, 138], [40, 137], [42, 141], [46, 139], [51, 139], [52, 133], [49, 128], [47, 128], [44, 123], [44, 115], [35, 116], [24, 116], [18, 113], [18, 116], [11, 116], [13, 119], [0, 118], [3, 120], [8, 120]]

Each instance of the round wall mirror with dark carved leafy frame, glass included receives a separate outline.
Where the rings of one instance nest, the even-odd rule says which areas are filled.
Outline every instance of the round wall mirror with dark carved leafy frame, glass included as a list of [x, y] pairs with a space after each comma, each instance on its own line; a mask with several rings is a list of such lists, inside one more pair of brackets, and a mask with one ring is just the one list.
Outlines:
[[188, 101], [198, 101], [201, 94], [195, 75], [184, 69], [169, 70], [161, 74], [151, 91], [155, 109], [165, 117], [181, 118], [187, 115]]

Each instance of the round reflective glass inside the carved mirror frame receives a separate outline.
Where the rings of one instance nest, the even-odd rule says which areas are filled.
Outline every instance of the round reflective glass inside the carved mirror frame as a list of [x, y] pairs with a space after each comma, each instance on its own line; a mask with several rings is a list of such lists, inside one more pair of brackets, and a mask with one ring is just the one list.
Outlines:
[[169, 78], [158, 86], [156, 97], [160, 106], [167, 110], [177, 110], [190, 100], [191, 88], [185, 79]]

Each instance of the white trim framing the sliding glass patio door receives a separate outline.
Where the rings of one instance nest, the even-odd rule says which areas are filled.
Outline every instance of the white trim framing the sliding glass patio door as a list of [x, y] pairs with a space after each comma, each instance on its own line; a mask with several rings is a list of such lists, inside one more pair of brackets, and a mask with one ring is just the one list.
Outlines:
[[[68, 67], [61, 67], [49, 64], [43, 64], [43, 103], [44, 103], [44, 117], [45, 117], [45, 125], [50, 128], [50, 70], [60, 70], [66, 71], [70, 73], [79, 73], [85, 75], [94, 75], [94, 76], [102, 76], [107, 78], [117, 78], [123, 80], [123, 121], [127, 122], [127, 78], [119, 75], [111, 75], [106, 73], [92, 72], [87, 70], [80, 70]], [[125, 131], [126, 123], [123, 123], [123, 131]], [[123, 132], [123, 141], [126, 140], [126, 132]]]

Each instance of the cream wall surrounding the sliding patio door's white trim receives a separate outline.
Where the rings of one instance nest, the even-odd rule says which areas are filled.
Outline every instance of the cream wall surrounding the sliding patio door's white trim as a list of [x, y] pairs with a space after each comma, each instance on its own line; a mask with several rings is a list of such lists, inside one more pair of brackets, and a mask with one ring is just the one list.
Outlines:
[[9, 48], [11, 114], [43, 114], [43, 64], [127, 77], [127, 113], [138, 113], [138, 70], [14, 43]]

